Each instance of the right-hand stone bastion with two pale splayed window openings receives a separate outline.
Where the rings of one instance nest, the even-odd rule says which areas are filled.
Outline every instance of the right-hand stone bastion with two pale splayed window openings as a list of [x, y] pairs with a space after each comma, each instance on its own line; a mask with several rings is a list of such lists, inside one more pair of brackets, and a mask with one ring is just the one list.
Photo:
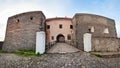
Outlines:
[[73, 45], [83, 50], [83, 34], [93, 37], [117, 37], [115, 21], [93, 14], [76, 14], [73, 17]]

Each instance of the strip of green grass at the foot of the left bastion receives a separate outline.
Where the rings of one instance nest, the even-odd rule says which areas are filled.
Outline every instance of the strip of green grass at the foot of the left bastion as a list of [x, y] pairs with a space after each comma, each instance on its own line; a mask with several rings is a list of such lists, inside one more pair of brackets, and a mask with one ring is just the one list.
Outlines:
[[41, 56], [42, 54], [40, 54], [40, 53], [35, 53], [35, 51], [34, 50], [19, 50], [19, 51], [17, 51], [17, 52], [6, 52], [6, 51], [2, 51], [2, 50], [0, 50], [0, 53], [8, 53], [8, 54], [16, 54], [16, 55], [19, 55], [19, 56], [25, 56], [25, 57], [27, 57], [27, 56]]

